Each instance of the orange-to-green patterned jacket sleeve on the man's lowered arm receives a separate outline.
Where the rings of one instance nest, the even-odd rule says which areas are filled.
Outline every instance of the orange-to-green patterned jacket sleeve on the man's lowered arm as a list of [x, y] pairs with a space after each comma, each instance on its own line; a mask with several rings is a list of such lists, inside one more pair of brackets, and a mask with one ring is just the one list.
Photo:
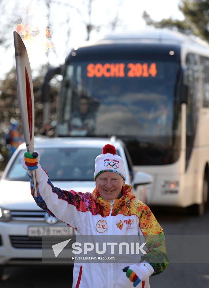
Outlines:
[[149, 263], [154, 269], [152, 276], [157, 275], [166, 269], [169, 259], [163, 229], [148, 206], [145, 206], [139, 217], [139, 228], [147, 243], [147, 254], [141, 257], [141, 262]]

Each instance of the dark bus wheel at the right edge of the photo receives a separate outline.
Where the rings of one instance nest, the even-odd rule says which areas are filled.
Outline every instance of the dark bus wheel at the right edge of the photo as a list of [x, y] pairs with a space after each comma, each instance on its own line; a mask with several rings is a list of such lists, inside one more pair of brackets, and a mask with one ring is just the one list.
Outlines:
[[189, 206], [189, 214], [195, 216], [202, 216], [205, 212], [206, 202], [208, 201], [208, 175], [205, 171], [202, 184], [202, 204], [194, 204]]

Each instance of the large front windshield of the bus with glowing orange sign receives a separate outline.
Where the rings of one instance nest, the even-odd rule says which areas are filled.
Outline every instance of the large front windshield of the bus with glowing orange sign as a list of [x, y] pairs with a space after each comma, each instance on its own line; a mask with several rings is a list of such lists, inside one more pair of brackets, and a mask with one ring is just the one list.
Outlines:
[[176, 161], [179, 69], [178, 62], [146, 59], [66, 64], [58, 135], [116, 135], [135, 165]]

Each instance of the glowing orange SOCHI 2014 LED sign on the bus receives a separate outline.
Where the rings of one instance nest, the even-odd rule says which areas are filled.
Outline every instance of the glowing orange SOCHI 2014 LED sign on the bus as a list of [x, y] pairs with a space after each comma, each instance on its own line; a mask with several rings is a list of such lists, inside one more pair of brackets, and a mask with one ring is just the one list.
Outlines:
[[87, 65], [87, 77], [155, 77], [156, 74], [156, 63], [150, 65], [148, 63], [128, 63], [127, 67], [124, 63], [90, 63]]

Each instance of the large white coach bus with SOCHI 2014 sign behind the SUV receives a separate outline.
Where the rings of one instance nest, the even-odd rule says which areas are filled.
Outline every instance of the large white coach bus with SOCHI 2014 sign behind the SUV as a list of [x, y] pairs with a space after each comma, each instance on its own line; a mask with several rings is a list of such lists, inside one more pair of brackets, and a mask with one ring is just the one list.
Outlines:
[[203, 214], [209, 45], [161, 29], [111, 35], [73, 49], [62, 75], [57, 136], [115, 135], [125, 142], [134, 172], [153, 176], [149, 205]]

